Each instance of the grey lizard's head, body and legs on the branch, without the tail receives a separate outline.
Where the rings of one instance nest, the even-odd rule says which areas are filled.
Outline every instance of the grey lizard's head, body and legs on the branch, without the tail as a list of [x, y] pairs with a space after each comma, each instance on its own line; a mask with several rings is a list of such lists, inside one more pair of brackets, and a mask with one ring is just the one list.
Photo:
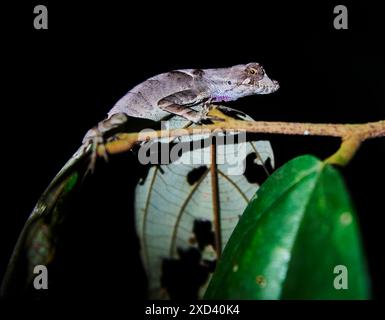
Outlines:
[[[96, 161], [96, 146], [103, 144], [103, 133], [123, 124], [127, 117], [161, 121], [171, 114], [193, 123], [220, 120], [208, 115], [211, 103], [278, 89], [278, 82], [256, 62], [228, 68], [174, 70], [149, 78], [128, 91], [108, 112], [107, 119], [85, 135], [83, 145], [92, 143], [94, 147], [90, 170]], [[103, 156], [107, 160], [106, 153]]]

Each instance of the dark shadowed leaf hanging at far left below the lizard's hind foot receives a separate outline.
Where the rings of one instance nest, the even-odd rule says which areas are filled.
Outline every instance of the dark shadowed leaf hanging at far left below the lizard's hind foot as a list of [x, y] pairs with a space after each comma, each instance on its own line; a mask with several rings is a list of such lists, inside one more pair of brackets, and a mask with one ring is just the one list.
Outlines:
[[53, 260], [58, 229], [65, 219], [61, 200], [81, 184], [79, 177], [84, 175], [88, 157], [89, 151], [82, 145], [41, 195], [13, 250], [1, 284], [0, 298], [24, 296], [32, 285], [34, 267], [47, 266]]

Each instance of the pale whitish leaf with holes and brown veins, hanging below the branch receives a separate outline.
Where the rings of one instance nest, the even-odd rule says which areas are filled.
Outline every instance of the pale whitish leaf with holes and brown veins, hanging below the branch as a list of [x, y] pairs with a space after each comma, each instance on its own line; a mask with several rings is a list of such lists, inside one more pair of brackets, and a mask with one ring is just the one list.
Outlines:
[[[250, 119], [248, 116], [244, 118]], [[171, 122], [170, 127], [176, 125], [179, 126], [181, 123]], [[182, 141], [191, 139], [191, 137], [181, 138]], [[274, 156], [268, 141], [246, 142], [238, 145], [238, 148], [242, 145], [246, 150], [245, 155], [257, 152], [263, 161], [270, 158], [271, 164], [274, 165]], [[209, 155], [210, 148], [186, 152], [182, 158], [201, 159], [202, 152]], [[240, 160], [237, 158], [239, 154], [234, 152], [231, 146], [217, 145], [217, 159], [224, 155], [227, 160], [236, 159], [238, 162]], [[203, 158], [210, 159], [210, 156]], [[215, 215], [210, 164], [178, 162], [151, 167], [145, 180], [136, 188], [136, 228], [141, 241], [142, 259], [147, 271], [151, 298], [161, 297], [163, 260], [178, 259], [179, 248], [197, 246], [191, 243], [194, 221], [207, 220], [213, 225]], [[255, 162], [260, 164], [260, 161]], [[217, 173], [223, 249], [239, 216], [259, 186], [249, 183], [243, 174], [228, 175], [229, 165], [220, 163], [221, 161], [218, 161]], [[201, 170], [201, 176], [195, 183], [190, 184], [187, 177], [198, 168]], [[210, 256], [211, 259], [215, 259], [213, 251], [212, 247], [207, 246], [202, 255], [208, 260]]]

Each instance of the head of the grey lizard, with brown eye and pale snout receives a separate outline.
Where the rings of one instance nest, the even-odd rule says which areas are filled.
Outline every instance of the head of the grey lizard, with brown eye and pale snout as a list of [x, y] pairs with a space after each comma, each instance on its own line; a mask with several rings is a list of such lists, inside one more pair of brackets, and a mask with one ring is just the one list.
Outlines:
[[234, 67], [237, 74], [237, 91], [244, 92], [244, 95], [268, 94], [279, 89], [278, 81], [271, 80], [263, 67], [256, 62]]

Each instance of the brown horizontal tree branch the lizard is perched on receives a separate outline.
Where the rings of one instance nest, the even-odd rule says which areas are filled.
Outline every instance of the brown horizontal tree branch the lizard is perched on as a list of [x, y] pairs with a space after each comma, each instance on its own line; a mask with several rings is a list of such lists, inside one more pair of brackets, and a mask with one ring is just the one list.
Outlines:
[[[345, 165], [353, 157], [361, 142], [371, 138], [385, 137], [385, 120], [363, 124], [244, 121], [228, 117], [216, 108], [213, 108], [209, 114], [222, 118], [223, 121], [215, 121], [213, 124], [185, 129], [151, 131], [146, 134], [139, 132], [121, 133], [116, 135], [116, 140], [105, 145], [105, 150], [110, 154], [115, 154], [130, 150], [137, 142], [165, 136], [178, 137], [204, 134], [217, 130], [244, 130], [252, 133], [339, 137], [342, 139], [341, 148], [334, 155], [326, 159], [326, 162]], [[102, 149], [103, 147], [98, 149], [100, 154], [103, 153]]]

